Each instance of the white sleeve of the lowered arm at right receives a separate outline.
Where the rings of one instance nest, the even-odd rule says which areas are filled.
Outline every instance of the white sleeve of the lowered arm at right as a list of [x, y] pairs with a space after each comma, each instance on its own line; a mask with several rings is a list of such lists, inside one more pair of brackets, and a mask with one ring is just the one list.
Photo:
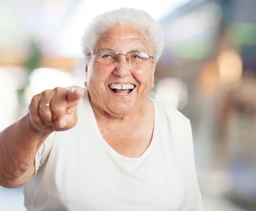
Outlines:
[[186, 141], [180, 155], [181, 177], [185, 198], [179, 211], [205, 211], [195, 170], [192, 129], [189, 120], [187, 125]]

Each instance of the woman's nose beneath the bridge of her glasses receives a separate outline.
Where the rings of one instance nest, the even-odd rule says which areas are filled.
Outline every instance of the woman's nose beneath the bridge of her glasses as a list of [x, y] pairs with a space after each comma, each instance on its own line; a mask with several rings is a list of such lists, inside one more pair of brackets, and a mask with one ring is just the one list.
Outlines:
[[113, 74], [119, 77], [126, 77], [131, 75], [131, 65], [126, 61], [126, 56], [124, 54], [119, 54], [118, 60], [115, 62], [115, 69]]

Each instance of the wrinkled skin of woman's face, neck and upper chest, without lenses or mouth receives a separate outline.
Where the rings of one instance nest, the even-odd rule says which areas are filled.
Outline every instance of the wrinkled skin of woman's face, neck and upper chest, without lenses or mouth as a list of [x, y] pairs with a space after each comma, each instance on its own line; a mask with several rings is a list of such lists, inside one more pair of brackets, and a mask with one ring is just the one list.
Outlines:
[[[112, 27], [98, 40], [94, 51], [102, 48], [152, 55], [146, 34], [134, 25]], [[143, 67], [131, 66], [124, 55], [113, 64], [95, 61], [86, 66], [90, 103], [99, 131], [108, 145], [125, 157], [140, 157], [151, 143], [154, 105], [146, 97], [154, 83], [155, 66], [151, 60]], [[136, 87], [128, 95], [117, 95], [108, 87], [111, 83], [132, 83]]]

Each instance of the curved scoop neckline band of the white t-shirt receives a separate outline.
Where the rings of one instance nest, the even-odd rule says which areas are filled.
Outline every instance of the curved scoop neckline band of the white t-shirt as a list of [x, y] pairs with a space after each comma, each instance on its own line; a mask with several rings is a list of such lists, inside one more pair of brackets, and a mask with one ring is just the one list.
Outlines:
[[154, 100], [152, 100], [151, 98], [148, 98], [148, 100], [150, 100], [152, 103], [153, 103], [153, 106], [154, 106], [154, 129], [153, 129], [153, 136], [152, 136], [152, 139], [151, 139], [151, 143], [149, 144], [148, 148], [144, 151], [144, 153], [140, 156], [140, 157], [125, 157], [124, 155], [122, 154], [119, 154], [117, 151], [115, 151], [105, 140], [104, 138], [102, 137], [102, 134], [100, 133], [99, 131], [99, 127], [98, 127], [98, 124], [96, 122], [96, 118], [94, 116], [94, 113], [93, 113], [93, 109], [90, 105], [90, 100], [89, 100], [89, 96], [88, 96], [88, 90], [87, 88], [85, 88], [85, 97], [86, 97], [86, 107], [90, 113], [90, 119], [92, 120], [92, 125], [93, 125], [93, 128], [95, 129], [96, 131], [96, 134], [97, 134], [97, 137], [98, 139], [100, 140], [100, 142], [102, 142], [102, 145], [105, 146], [106, 150], [108, 152], [110, 152], [113, 156], [115, 156], [117, 159], [119, 160], [123, 160], [123, 161], [127, 161], [127, 162], [135, 162], [135, 161], [139, 161], [139, 160], [143, 160], [144, 157], [147, 157], [147, 155], [151, 152], [152, 148], [154, 147], [155, 145], [155, 140], [156, 140], [156, 136], [157, 136], [157, 125], [158, 125], [158, 120], [157, 120], [157, 106], [156, 106], [156, 103], [154, 102]]

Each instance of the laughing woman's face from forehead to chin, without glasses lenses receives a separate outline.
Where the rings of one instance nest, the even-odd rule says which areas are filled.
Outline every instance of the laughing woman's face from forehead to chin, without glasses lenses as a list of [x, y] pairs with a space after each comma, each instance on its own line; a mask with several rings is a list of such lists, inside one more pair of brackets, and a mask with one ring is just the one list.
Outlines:
[[[103, 48], [113, 49], [119, 54], [137, 50], [152, 55], [147, 35], [131, 24], [112, 27], [98, 40], [94, 51]], [[142, 67], [131, 66], [125, 55], [119, 55], [113, 64], [95, 60], [91, 67], [86, 66], [91, 104], [117, 117], [138, 110], [154, 83], [155, 66], [152, 60], [147, 60]]]

